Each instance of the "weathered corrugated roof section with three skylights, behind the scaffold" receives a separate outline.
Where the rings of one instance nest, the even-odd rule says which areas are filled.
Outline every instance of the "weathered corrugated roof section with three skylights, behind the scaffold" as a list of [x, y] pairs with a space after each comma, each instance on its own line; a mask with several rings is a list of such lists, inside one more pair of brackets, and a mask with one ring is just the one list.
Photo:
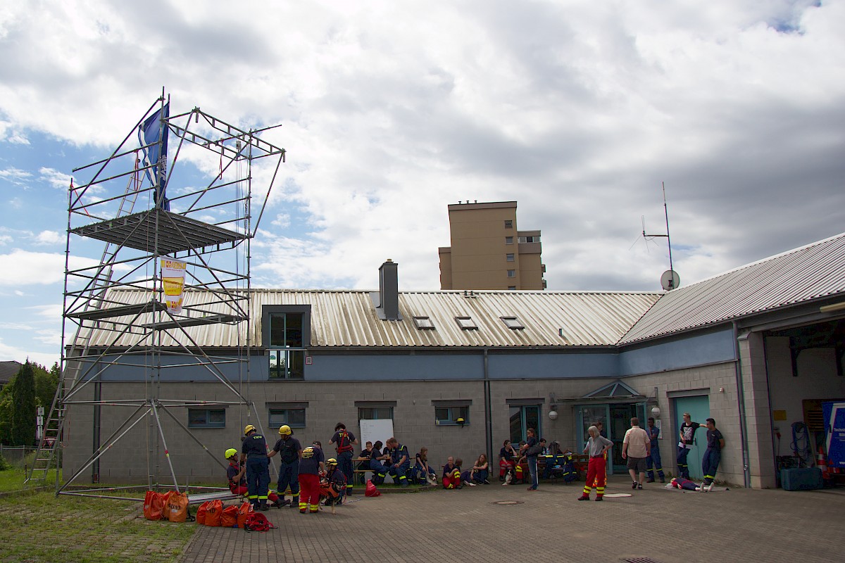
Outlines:
[[[148, 292], [118, 291], [121, 295], [115, 298], [121, 303], [143, 303], [150, 299]], [[190, 306], [199, 293], [188, 291], [185, 305]], [[253, 345], [262, 345], [259, 319], [263, 306], [309, 304], [311, 347], [610, 346], [659, 297], [657, 293], [643, 292], [474, 291], [472, 296], [465, 296], [463, 291], [408, 291], [399, 294], [403, 320], [382, 321], [373, 306], [371, 293], [253, 290]], [[221, 306], [205, 309], [224, 312]], [[429, 317], [434, 329], [418, 329], [413, 317]], [[461, 329], [455, 317], [472, 317], [477, 330]], [[508, 328], [500, 317], [516, 317], [524, 328]], [[129, 320], [123, 318], [124, 322]], [[238, 335], [236, 328], [228, 324], [189, 327], [186, 332], [204, 347], [230, 347], [246, 342], [243, 328]], [[111, 344], [113, 338], [114, 333], [97, 330], [91, 344], [101, 347]], [[137, 339], [125, 335], [113, 345], [130, 346]], [[162, 335], [161, 346], [176, 344], [169, 336]]]

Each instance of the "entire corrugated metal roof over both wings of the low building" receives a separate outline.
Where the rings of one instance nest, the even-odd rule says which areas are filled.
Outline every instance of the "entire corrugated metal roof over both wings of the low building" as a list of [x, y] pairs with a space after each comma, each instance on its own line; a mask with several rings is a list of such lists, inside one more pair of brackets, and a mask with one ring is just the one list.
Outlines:
[[[115, 303], [140, 305], [149, 291], [115, 290]], [[371, 291], [253, 290], [254, 346], [261, 346], [263, 306], [310, 305], [311, 347], [560, 347], [630, 344], [691, 328], [706, 327], [780, 306], [845, 294], [845, 233], [682, 286], [668, 293], [611, 291], [405, 291], [399, 294], [402, 321], [382, 321]], [[208, 301], [188, 290], [185, 305]], [[245, 303], [245, 300], [244, 300]], [[201, 307], [208, 314], [232, 314], [221, 304]], [[420, 330], [413, 317], [429, 317], [434, 330]], [[463, 330], [455, 317], [471, 317], [477, 330]], [[508, 328], [500, 317], [516, 317], [524, 328]], [[133, 321], [150, 322], [149, 314]], [[100, 321], [107, 327], [107, 321]], [[246, 343], [246, 328], [208, 324], [186, 328], [200, 346], [229, 348]], [[82, 335], [83, 337], [85, 334]], [[177, 345], [162, 333], [161, 346]], [[128, 347], [137, 335], [98, 329], [95, 347]], [[187, 342], [180, 337], [180, 341]]]

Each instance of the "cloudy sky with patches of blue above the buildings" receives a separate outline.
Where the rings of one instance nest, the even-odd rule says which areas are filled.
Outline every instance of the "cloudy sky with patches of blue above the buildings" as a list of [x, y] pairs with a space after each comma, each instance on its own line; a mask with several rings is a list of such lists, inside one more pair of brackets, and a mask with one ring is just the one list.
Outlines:
[[72, 171], [162, 88], [281, 124], [254, 286], [391, 258], [438, 290], [447, 205], [515, 200], [548, 290], [657, 291], [662, 185], [682, 285], [845, 230], [843, 29], [845, 0], [0, 0], [0, 360], [58, 360]]

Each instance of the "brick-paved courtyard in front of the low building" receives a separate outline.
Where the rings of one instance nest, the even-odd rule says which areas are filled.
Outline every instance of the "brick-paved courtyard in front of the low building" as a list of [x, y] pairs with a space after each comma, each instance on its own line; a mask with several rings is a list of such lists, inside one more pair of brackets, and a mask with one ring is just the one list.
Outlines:
[[583, 483], [479, 485], [355, 495], [319, 514], [266, 512], [278, 529], [200, 527], [183, 562], [243, 560], [472, 563], [474, 561], [813, 562], [845, 559], [845, 490], [732, 489], [696, 493], [611, 478], [602, 502]]

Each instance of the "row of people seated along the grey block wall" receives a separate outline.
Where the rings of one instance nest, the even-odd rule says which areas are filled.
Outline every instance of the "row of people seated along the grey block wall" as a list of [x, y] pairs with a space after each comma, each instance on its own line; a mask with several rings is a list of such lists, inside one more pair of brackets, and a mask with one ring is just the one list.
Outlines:
[[[505, 485], [519, 484], [528, 479], [528, 465], [524, 455], [525, 442], [521, 442], [519, 449], [516, 449], [510, 442], [505, 440], [502, 449], [499, 451], [499, 481]], [[575, 468], [572, 463], [572, 452], [569, 449], [562, 451], [557, 441], [546, 446], [546, 440], [540, 439], [543, 447], [541, 459], [545, 461], [543, 479], [562, 477], [565, 480], [575, 479]], [[372, 471], [373, 485], [381, 485], [387, 475], [393, 478], [394, 483], [402, 487], [408, 485], [435, 485], [438, 482], [438, 475], [432, 465], [428, 462], [428, 448], [421, 447], [415, 457], [415, 463], [411, 464], [411, 456], [406, 446], [401, 445], [395, 438], [390, 438], [387, 444], [381, 441], [375, 443], [368, 441], [357, 459], [358, 471]], [[478, 456], [471, 468], [464, 468], [463, 460], [459, 457], [450, 456], [441, 473], [441, 484], [444, 489], [462, 489], [465, 485], [474, 487], [476, 485], [489, 485], [488, 479], [490, 467], [486, 454]], [[364, 483], [363, 474], [359, 477], [361, 484]]]

